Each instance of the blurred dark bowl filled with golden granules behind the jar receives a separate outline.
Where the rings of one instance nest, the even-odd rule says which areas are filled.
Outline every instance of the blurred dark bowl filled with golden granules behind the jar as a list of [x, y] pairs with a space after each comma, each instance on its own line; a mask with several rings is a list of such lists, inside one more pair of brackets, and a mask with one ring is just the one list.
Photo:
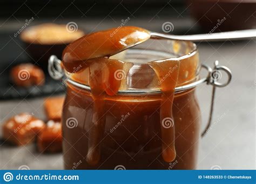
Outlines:
[[69, 31], [66, 25], [41, 24], [23, 31], [21, 40], [30, 59], [47, 70], [48, 59], [52, 54], [62, 58], [63, 49], [83, 35], [84, 32], [76, 27]]

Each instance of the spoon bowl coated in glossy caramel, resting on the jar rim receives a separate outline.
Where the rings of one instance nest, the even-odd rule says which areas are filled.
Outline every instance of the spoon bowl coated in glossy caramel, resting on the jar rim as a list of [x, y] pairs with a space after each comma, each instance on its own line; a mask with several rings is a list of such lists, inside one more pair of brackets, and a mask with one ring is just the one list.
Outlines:
[[90, 61], [86, 60], [109, 57], [149, 38], [149, 31], [133, 26], [87, 34], [64, 49], [63, 65], [72, 73], [74, 67], [79, 65], [87, 67]]

